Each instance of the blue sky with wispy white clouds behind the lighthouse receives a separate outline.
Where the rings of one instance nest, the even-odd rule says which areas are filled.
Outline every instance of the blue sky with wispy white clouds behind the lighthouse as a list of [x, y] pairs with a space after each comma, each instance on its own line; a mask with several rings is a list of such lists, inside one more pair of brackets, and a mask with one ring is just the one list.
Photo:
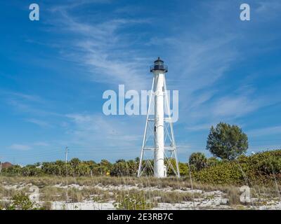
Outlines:
[[[145, 116], [105, 116], [105, 90], [149, 90], [161, 56], [179, 91], [179, 159], [205, 150], [211, 125], [240, 125], [249, 152], [281, 146], [281, 2], [0, 3], [0, 158], [19, 164], [140, 155]], [[249, 3], [251, 21], [240, 20]]]

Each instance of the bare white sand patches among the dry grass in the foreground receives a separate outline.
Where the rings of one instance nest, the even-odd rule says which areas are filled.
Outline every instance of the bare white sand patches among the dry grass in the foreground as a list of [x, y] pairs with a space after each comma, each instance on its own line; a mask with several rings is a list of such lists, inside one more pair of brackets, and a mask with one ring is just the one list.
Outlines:
[[[23, 184], [20, 183], [18, 185], [4, 185], [6, 189], [14, 189], [14, 190], [22, 190], [23, 188], [32, 188], [32, 184]], [[78, 184], [70, 184], [69, 186], [63, 186], [62, 184], [57, 184], [53, 186], [55, 188], [77, 188], [79, 190], [83, 190], [84, 188], [89, 188], [89, 186], [79, 186]], [[100, 190], [107, 190], [109, 193], [112, 190], [145, 190], [145, 191], [154, 191], [161, 190], [163, 193], [167, 192], [178, 192], [178, 193], [197, 193], [200, 194], [199, 198], [194, 198], [194, 200], [190, 202], [181, 202], [181, 203], [158, 203], [157, 207], [153, 209], [159, 210], [190, 210], [190, 209], [281, 209], [281, 202], [279, 198], [275, 198], [274, 200], [263, 199], [263, 204], [260, 206], [251, 206], [249, 204], [246, 205], [237, 205], [230, 207], [228, 205], [228, 199], [226, 199], [226, 193], [221, 192], [220, 190], [214, 190], [209, 192], [204, 192], [202, 190], [191, 190], [190, 188], [181, 188], [174, 190], [173, 188], [157, 188], [157, 187], [149, 187], [149, 188], [139, 188], [138, 186], [130, 186], [130, 185], [120, 185], [120, 186], [102, 186], [100, 184], [96, 186], [91, 186], [91, 188], [98, 188]], [[30, 194], [31, 200], [39, 200], [39, 192], [34, 191]], [[2, 199], [3, 200], [3, 199]], [[6, 199], [8, 200], [8, 199]], [[252, 199], [258, 200], [258, 199]], [[38, 201], [37, 201], [38, 202]], [[39, 204], [43, 202], [39, 201]], [[52, 209], [56, 210], [112, 210], [115, 209], [114, 201], [108, 200], [107, 202], [95, 202], [93, 200], [84, 200], [83, 202], [51, 202]]]

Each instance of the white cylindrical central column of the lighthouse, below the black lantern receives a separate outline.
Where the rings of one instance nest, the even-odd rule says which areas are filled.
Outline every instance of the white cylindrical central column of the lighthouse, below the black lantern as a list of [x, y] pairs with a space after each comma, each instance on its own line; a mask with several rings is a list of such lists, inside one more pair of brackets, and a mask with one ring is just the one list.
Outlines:
[[154, 176], [164, 177], [164, 73], [155, 71]]

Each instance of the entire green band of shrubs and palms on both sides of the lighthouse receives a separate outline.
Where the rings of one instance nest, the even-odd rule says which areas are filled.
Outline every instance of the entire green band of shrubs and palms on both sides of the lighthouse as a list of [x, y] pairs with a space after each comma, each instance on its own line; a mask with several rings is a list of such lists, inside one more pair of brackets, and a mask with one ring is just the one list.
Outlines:
[[[63, 161], [42, 162], [20, 167], [15, 165], [2, 169], [5, 176], [136, 176], [138, 171], [136, 160], [117, 160], [110, 163], [102, 160], [81, 161], [73, 158], [65, 164]], [[205, 158], [202, 153], [194, 153], [188, 163], [179, 164], [181, 176], [189, 178], [189, 167], [192, 178], [201, 183], [214, 184], [275, 184], [281, 181], [281, 150], [266, 151], [255, 155], [240, 155], [235, 160], [218, 160]], [[170, 170], [170, 175], [173, 172]]]

